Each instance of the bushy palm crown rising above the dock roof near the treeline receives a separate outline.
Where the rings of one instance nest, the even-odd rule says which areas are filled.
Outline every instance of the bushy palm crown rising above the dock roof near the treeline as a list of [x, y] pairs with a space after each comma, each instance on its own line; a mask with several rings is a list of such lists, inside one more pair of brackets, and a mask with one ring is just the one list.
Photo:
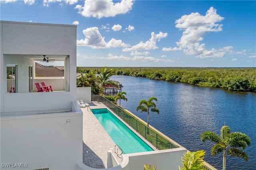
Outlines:
[[103, 67], [102, 69], [98, 70], [98, 81], [102, 87], [105, 85], [118, 85], [119, 82], [115, 80], [110, 80], [112, 75], [115, 75], [112, 69], [107, 69], [107, 67]]

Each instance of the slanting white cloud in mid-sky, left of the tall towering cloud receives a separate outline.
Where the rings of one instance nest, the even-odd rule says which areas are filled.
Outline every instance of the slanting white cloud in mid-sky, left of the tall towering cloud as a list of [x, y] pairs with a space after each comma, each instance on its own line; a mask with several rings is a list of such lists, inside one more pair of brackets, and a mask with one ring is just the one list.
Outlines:
[[157, 49], [158, 47], [156, 46], [156, 40], [158, 40], [159, 42], [160, 39], [165, 38], [166, 36], [168, 36], [167, 33], [159, 32], [159, 34], [155, 34], [154, 32], [152, 32], [150, 40], [146, 41], [145, 43], [140, 42], [137, 45], [132, 46], [131, 48], [124, 48], [122, 51], [132, 51], [136, 49]]

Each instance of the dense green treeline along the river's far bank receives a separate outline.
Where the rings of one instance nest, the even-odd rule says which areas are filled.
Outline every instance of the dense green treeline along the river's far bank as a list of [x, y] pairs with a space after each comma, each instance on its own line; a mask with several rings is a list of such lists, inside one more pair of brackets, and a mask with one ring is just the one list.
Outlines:
[[[96, 67], [77, 67], [78, 73], [96, 73]], [[108, 67], [116, 75], [130, 75], [219, 87], [233, 91], [256, 92], [256, 68], [196, 68], [196, 67]]]

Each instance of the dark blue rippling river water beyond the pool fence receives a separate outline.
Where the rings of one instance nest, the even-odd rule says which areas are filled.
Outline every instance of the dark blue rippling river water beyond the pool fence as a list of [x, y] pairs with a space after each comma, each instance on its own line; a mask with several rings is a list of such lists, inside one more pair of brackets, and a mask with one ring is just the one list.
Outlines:
[[256, 93], [124, 75], [111, 79], [122, 83], [122, 91], [127, 93], [128, 101], [122, 100], [122, 107], [145, 122], [147, 113], [137, 112], [136, 107], [140, 100], [155, 96], [160, 114], [150, 113], [150, 125], [192, 152], [205, 150], [204, 160], [218, 170], [222, 169], [222, 154], [210, 156], [214, 143], [202, 142], [202, 132], [213, 131], [220, 135], [225, 123], [231, 132], [245, 133], [252, 140], [251, 146], [244, 150], [249, 156], [248, 162], [227, 156], [226, 170], [256, 170]]

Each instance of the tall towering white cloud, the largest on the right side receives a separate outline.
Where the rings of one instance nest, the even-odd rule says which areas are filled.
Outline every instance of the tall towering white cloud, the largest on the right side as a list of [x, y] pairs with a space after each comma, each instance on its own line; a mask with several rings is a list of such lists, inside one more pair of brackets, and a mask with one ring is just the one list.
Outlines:
[[203, 36], [206, 32], [220, 32], [222, 31], [221, 22], [224, 18], [216, 13], [216, 9], [210, 7], [206, 15], [202, 16], [198, 12], [184, 15], [175, 21], [176, 28], [183, 30], [183, 35], [179, 42], [176, 42], [178, 47], [164, 47], [162, 51], [180, 50], [183, 49], [185, 54], [197, 55], [199, 58], [208, 57], [224, 57], [231, 47], [223, 47], [222, 49], [206, 49]]

